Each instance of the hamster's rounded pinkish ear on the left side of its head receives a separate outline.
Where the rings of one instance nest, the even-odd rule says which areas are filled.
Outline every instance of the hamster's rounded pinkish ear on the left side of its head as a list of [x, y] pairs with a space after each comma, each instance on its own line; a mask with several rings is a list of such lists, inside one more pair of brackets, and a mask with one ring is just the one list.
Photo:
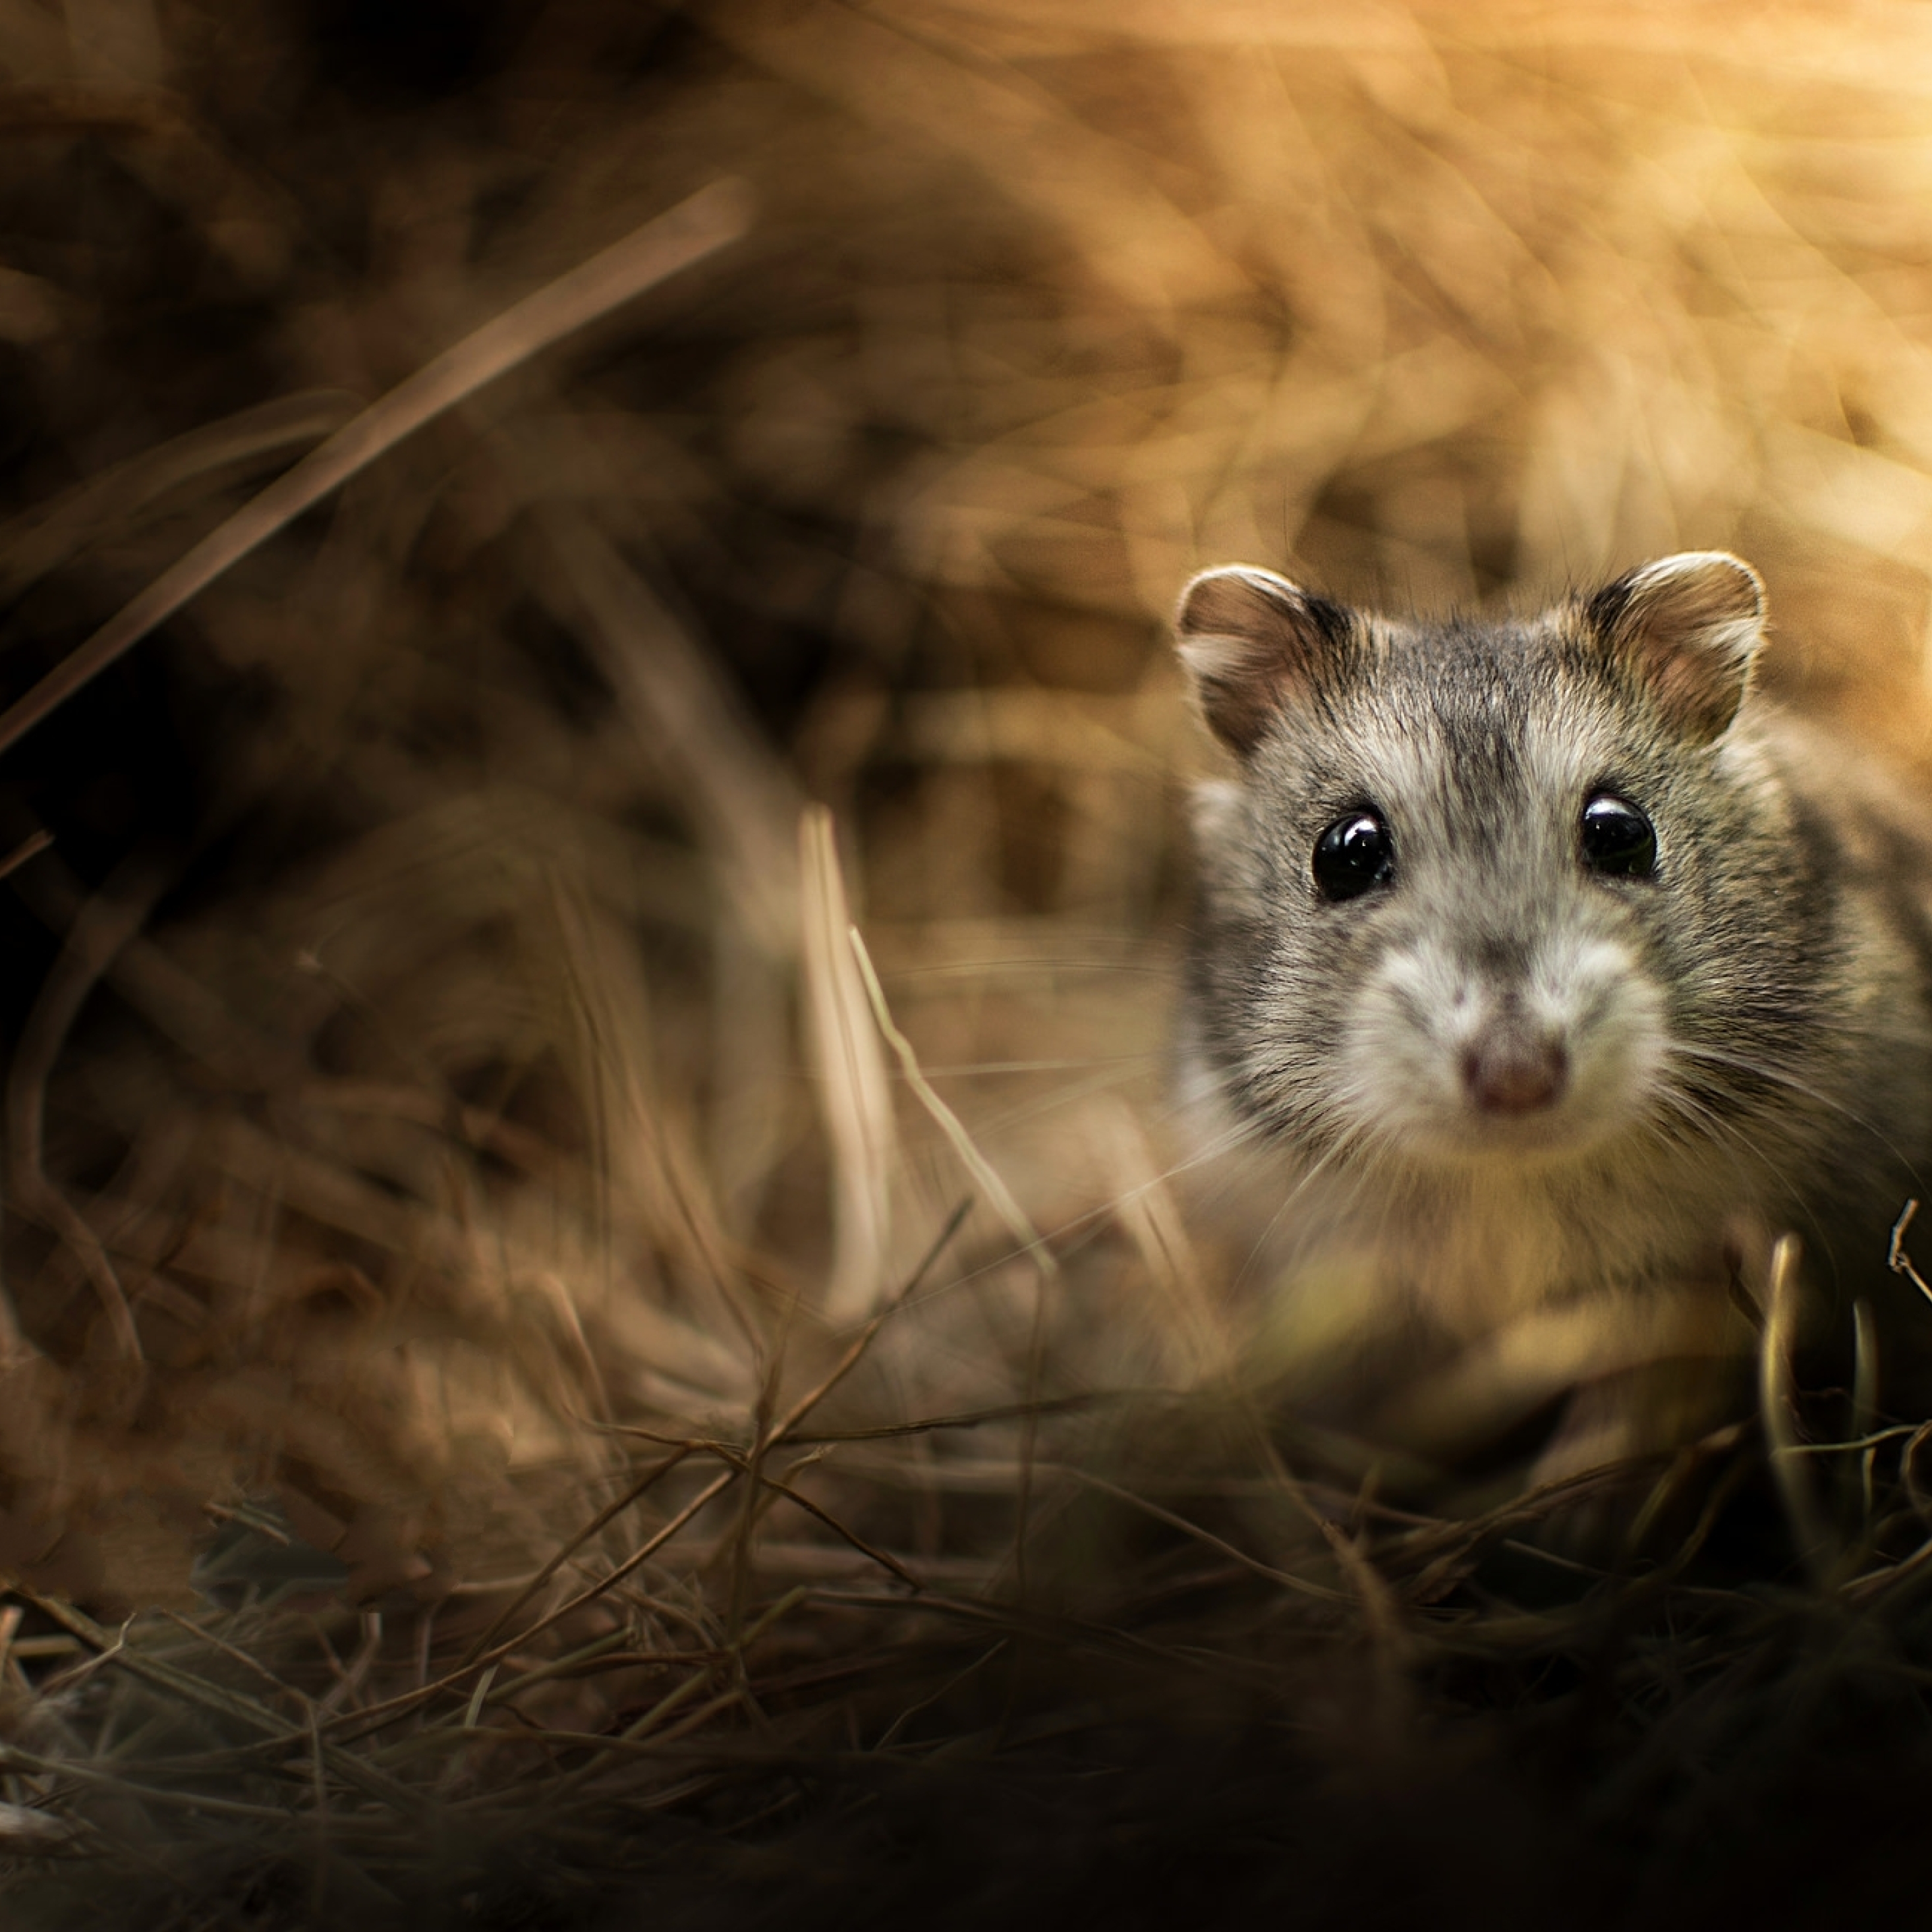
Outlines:
[[1202, 717], [1238, 757], [1254, 752], [1285, 705], [1331, 682], [1356, 647], [1341, 605], [1250, 564], [1194, 578], [1180, 593], [1175, 636]]

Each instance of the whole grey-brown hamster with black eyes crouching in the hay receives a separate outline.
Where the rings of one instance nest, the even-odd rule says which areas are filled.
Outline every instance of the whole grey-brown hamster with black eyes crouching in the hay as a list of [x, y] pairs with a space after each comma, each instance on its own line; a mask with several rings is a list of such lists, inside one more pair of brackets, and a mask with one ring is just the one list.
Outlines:
[[[1540, 1474], [1683, 1439], [1748, 1401], [1785, 1229], [1824, 1327], [1889, 1310], [1888, 1374], [1932, 1329], [1886, 1269], [1932, 1173], [1932, 817], [1752, 690], [1764, 616], [1714, 551], [1526, 620], [1182, 593], [1236, 767], [1196, 794], [1186, 1097], [1352, 1422], [1453, 1455], [1546, 1410]], [[1393, 1335], [1414, 1372], [1364, 1381]]]

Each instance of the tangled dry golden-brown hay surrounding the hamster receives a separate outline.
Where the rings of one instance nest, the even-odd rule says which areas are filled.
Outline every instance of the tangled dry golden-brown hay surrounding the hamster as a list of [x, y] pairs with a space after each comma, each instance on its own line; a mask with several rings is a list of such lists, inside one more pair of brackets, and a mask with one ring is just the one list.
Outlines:
[[1932, 767], [1920, 10], [8, 0], [0, 73], [10, 1922], [1917, 1899], [1918, 1418], [1484, 1493], [1254, 1387], [1161, 626], [1735, 547]]

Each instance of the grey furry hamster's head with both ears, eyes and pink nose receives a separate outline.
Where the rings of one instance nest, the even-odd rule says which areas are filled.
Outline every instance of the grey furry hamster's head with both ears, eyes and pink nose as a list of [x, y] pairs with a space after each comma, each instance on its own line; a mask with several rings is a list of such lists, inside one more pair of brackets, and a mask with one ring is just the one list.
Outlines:
[[[1789, 808], [1737, 713], [1764, 593], [1648, 564], [1522, 622], [1395, 622], [1209, 570], [1194, 1030], [1244, 1121], [1410, 1169], [1708, 1142], [1776, 1053]], [[1714, 1068], [1718, 1070], [1714, 1074]]]

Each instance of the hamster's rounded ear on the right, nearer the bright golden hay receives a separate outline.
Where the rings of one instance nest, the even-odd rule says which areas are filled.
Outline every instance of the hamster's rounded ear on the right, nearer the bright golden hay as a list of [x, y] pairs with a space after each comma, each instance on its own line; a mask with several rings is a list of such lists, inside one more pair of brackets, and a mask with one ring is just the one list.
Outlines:
[[1764, 583], [1727, 551], [1685, 551], [1617, 578], [1582, 614], [1671, 728], [1712, 744], [1729, 728], [1764, 643]]

